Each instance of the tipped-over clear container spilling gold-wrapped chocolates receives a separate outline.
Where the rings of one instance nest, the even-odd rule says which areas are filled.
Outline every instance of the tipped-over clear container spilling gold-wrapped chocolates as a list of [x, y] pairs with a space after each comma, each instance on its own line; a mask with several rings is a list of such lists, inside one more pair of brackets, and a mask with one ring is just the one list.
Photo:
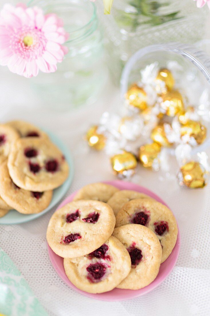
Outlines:
[[[178, 71], [176, 88], [184, 95], [186, 102], [184, 106], [190, 105], [195, 108], [200, 106], [200, 115], [207, 127], [206, 141], [195, 146], [192, 155], [209, 149], [210, 146], [210, 56], [197, 46], [170, 43], [144, 47], [129, 58], [120, 79], [121, 98], [124, 100], [128, 87], [133, 82], [139, 82], [140, 71], [147, 65], [158, 63], [158, 68], [167, 68], [167, 63], [175, 62], [180, 66], [178, 68], [175, 66]], [[202, 103], [201, 95], [204, 92], [206, 100]], [[172, 155], [175, 154], [174, 149], [167, 150]]]

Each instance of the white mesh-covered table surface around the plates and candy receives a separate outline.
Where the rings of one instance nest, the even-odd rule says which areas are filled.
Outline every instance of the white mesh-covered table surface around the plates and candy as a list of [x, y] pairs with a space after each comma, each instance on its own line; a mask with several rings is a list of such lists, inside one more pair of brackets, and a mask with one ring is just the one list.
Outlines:
[[[0, 4], [6, 1], [0, 1]], [[207, 28], [209, 29], [209, 28]], [[208, 34], [207, 34], [208, 36]], [[28, 80], [0, 68], [0, 119], [23, 119], [44, 126], [65, 142], [73, 154], [75, 174], [68, 192], [90, 182], [116, 179], [108, 157], [87, 149], [82, 141], [91, 123], [120, 104], [119, 89], [107, 83], [92, 106], [69, 113], [50, 112], [29, 93]], [[154, 291], [123, 302], [95, 301], [68, 288], [51, 266], [45, 232], [55, 208], [22, 225], [0, 226], [0, 243], [15, 262], [49, 315], [210, 315], [210, 185], [190, 191], [177, 180], [160, 179], [139, 167], [132, 181], [154, 191], [173, 210], [181, 233], [181, 251], [171, 275]]]

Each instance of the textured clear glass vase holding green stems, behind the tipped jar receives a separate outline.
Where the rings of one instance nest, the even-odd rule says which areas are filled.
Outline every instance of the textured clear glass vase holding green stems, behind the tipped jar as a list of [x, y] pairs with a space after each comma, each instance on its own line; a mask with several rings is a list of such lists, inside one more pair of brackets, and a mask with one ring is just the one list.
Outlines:
[[102, 15], [114, 81], [119, 82], [126, 61], [142, 47], [201, 40], [207, 16], [208, 8], [198, 9], [192, 0], [114, 0], [112, 14]]

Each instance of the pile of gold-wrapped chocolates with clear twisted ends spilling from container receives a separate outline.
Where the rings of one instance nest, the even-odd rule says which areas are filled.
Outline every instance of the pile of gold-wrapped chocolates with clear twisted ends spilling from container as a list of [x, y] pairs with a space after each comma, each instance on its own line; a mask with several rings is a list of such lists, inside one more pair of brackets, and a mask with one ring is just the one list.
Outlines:
[[[168, 64], [177, 67], [176, 62]], [[138, 163], [155, 171], [164, 169], [167, 156], [173, 155], [180, 185], [207, 184], [208, 158], [199, 151], [207, 139], [202, 121], [210, 117], [208, 91], [202, 91], [195, 106], [178, 78], [168, 66], [160, 68], [157, 62], [146, 66], [140, 81], [128, 88], [120, 115], [105, 112], [99, 124], [88, 130], [89, 146], [105, 150], [120, 178], [131, 177]]]

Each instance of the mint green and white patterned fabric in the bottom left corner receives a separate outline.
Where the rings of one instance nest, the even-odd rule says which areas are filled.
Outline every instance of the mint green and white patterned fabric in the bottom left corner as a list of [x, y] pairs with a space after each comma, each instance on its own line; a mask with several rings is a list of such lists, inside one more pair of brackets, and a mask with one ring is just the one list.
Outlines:
[[0, 313], [6, 316], [47, 316], [28, 283], [0, 248]]

